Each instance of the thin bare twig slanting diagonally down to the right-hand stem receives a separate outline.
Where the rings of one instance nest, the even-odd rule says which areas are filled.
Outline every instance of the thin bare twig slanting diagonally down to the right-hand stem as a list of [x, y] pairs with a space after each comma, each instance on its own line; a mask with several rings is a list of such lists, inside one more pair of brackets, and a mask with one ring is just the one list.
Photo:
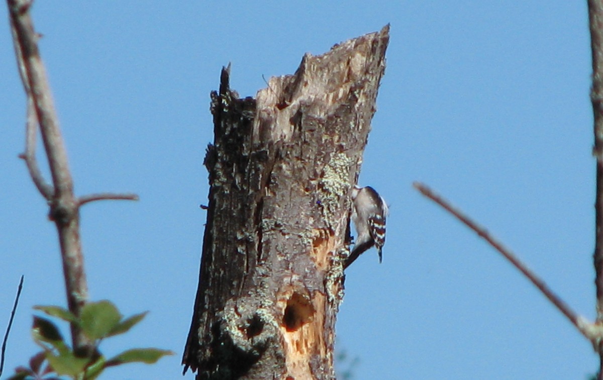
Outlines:
[[528, 279], [545, 295], [546, 298], [549, 299], [553, 303], [553, 305], [557, 306], [557, 308], [572, 322], [574, 326], [584, 335], [588, 340], [593, 341], [593, 329], [590, 329], [588, 323], [585, 323], [585, 319], [576, 312], [574, 312], [568, 305], [565, 303], [557, 294], [555, 294], [546, 283], [541, 280], [534, 272], [532, 272], [523, 262], [519, 261], [517, 256], [514, 255], [509, 249], [507, 249], [504, 245], [502, 245], [499, 241], [494, 239], [490, 233], [484, 227], [475, 223], [469, 217], [463, 214], [463, 212], [459, 211], [455, 207], [453, 207], [448, 201], [444, 200], [444, 198], [440, 197], [440, 195], [435, 194], [431, 189], [429, 189], [423, 183], [415, 182], [412, 184], [415, 189], [421, 192], [421, 194], [425, 195], [435, 203], [439, 204], [446, 211], [450, 212], [454, 217], [463, 222], [467, 227], [475, 231], [482, 239], [488, 242], [494, 249], [496, 249], [505, 259], [511, 262], [514, 267], [516, 267], [520, 272], [523, 273], [524, 276], [528, 277]]

